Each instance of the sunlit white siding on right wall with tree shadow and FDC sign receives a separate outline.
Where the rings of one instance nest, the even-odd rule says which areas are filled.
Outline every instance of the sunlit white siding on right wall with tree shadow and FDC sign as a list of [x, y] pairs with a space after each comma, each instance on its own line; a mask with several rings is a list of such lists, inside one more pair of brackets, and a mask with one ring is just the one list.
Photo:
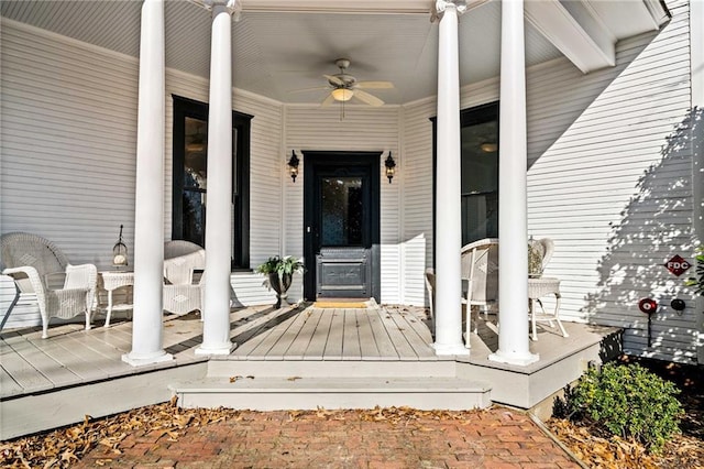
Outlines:
[[[626, 327], [638, 355], [694, 360], [692, 292], [663, 264], [692, 259], [692, 149], [685, 2], [654, 35], [617, 46], [617, 64], [582, 76], [566, 62], [528, 73], [529, 232], [550, 237], [547, 275], [562, 280], [561, 315]], [[638, 301], [660, 307], [648, 348]]]

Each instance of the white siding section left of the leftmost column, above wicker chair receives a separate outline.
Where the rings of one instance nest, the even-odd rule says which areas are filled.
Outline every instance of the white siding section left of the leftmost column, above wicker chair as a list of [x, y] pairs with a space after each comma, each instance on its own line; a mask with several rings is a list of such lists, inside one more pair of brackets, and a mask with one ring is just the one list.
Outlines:
[[7, 20], [1, 34], [0, 230], [105, 269], [120, 225], [133, 233], [136, 63]]

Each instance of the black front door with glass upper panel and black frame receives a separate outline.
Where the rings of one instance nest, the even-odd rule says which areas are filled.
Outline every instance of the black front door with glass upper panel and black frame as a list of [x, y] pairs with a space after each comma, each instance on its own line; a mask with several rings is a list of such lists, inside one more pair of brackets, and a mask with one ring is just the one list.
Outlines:
[[304, 152], [306, 298], [380, 296], [380, 153]]

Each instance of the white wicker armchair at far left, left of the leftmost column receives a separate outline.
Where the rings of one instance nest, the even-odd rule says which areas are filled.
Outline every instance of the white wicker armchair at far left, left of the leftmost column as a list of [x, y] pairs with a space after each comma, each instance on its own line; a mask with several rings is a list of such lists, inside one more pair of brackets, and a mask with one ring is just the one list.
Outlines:
[[[42, 316], [42, 338], [48, 337], [52, 317], [68, 319], [86, 315], [90, 329], [90, 310], [96, 296], [98, 270], [92, 264], [72, 265], [53, 242], [31, 233], [12, 232], [0, 238], [3, 274], [10, 275], [21, 293], [34, 293]], [[61, 275], [63, 287], [53, 290]]]

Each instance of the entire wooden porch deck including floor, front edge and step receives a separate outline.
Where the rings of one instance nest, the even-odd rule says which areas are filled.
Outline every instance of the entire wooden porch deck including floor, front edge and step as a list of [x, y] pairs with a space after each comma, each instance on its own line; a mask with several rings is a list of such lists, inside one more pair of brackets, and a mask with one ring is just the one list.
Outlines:
[[[469, 358], [438, 357], [431, 347], [432, 337], [422, 308], [372, 305], [365, 309], [332, 309], [304, 305], [275, 310], [250, 307], [235, 309], [230, 315], [230, 336], [238, 345], [230, 356], [196, 356], [194, 351], [202, 340], [199, 317], [195, 314], [167, 316], [164, 347], [174, 360], [133, 368], [122, 361], [122, 356], [132, 348], [132, 323], [118, 317], [110, 328], [101, 327], [99, 318], [94, 324], [91, 330], [84, 330], [80, 318], [76, 323], [52, 326], [48, 339], [41, 338], [41, 327], [0, 334], [0, 439], [79, 422], [85, 415], [99, 417], [164, 402], [174, 394], [180, 399], [189, 385], [201, 390], [212, 385], [206, 391], [220, 397], [224, 388], [230, 392], [248, 391], [238, 386], [249, 386], [246, 396], [230, 399], [234, 399], [237, 406], [260, 410], [270, 405], [260, 402], [260, 397], [271, 391], [267, 385], [289, 386], [293, 396], [308, 392], [326, 405], [336, 404], [321, 400], [324, 391], [341, 393], [341, 388], [349, 394], [344, 402], [350, 405], [356, 402], [352, 399], [355, 392], [375, 395], [387, 405], [405, 405], [377, 392], [380, 388], [394, 385], [393, 380], [397, 380], [404, 392], [414, 395], [420, 395], [424, 388], [451, 393], [464, 386], [462, 392], [466, 392], [471, 381], [482, 395], [488, 395], [488, 390], [494, 388], [492, 399], [497, 395], [499, 402], [506, 402], [510, 396], [506, 397], [505, 390], [496, 392], [497, 388], [506, 388], [501, 383], [515, 382], [521, 388], [531, 388], [520, 380], [535, 375], [544, 381], [546, 367], [557, 367], [559, 384], [553, 391], [561, 389], [566, 381], [560, 373], [570, 380], [575, 373], [572, 364], [565, 374], [563, 358], [583, 353], [595, 345], [598, 348], [602, 338], [598, 332], [590, 331], [588, 326], [575, 324], [566, 325], [570, 339], [542, 331], [541, 339], [531, 342], [531, 349], [541, 353], [543, 364], [534, 364], [530, 370], [513, 370], [486, 359], [492, 348], [495, 349], [491, 323], [481, 325], [480, 336], [472, 337]], [[584, 361], [588, 357], [579, 359]], [[257, 380], [241, 380], [238, 386], [231, 384], [233, 375], [251, 374], [256, 374]], [[294, 374], [311, 379], [292, 383]], [[429, 380], [430, 377], [436, 381]], [[477, 382], [488, 384], [477, 388]], [[370, 386], [376, 388], [370, 391]], [[464, 394], [458, 395], [457, 402], [466, 402]], [[299, 404], [289, 397], [276, 402]], [[441, 407], [443, 399], [436, 396], [433, 402]], [[477, 402], [485, 402], [482, 399], [485, 397]], [[229, 405], [227, 400], [208, 402]], [[29, 408], [31, 413], [26, 412]]]

